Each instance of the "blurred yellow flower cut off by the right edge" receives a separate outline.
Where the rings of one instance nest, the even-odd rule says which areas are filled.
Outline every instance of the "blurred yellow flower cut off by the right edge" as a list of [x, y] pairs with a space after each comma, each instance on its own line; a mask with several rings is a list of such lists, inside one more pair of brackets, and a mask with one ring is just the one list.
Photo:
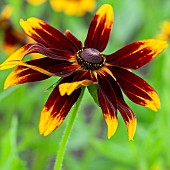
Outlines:
[[170, 41], [170, 21], [164, 21], [161, 26], [161, 32], [158, 38]]

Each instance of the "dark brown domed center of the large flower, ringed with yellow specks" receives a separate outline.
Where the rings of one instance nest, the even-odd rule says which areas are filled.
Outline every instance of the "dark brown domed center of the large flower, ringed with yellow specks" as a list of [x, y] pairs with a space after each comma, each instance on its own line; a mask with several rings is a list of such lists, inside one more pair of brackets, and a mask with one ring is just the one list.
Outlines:
[[85, 48], [76, 53], [77, 62], [86, 70], [98, 70], [103, 67], [105, 58], [94, 48]]

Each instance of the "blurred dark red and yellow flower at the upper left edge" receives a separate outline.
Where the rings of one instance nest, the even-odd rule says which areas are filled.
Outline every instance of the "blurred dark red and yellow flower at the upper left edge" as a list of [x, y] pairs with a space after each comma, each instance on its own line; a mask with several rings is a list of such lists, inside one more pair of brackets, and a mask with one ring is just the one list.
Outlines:
[[25, 34], [14, 28], [10, 20], [11, 13], [12, 6], [6, 6], [0, 16], [0, 30], [4, 37], [2, 48], [8, 55], [26, 43]]

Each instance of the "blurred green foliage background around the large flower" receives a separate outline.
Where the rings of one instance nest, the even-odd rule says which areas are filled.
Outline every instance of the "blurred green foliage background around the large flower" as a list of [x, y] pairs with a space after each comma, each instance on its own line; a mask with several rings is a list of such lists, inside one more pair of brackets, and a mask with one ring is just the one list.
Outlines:
[[[57, 13], [48, 1], [33, 6], [24, 0], [0, 0], [0, 10], [8, 4], [13, 6], [10, 19], [16, 29], [21, 30], [20, 18], [34, 16], [62, 32], [70, 29], [84, 41], [92, 16], [104, 3], [111, 4], [115, 14], [110, 41], [104, 51], [106, 54], [128, 43], [156, 37], [162, 22], [170, 20], [170, 0], [97, 0], [94, 11], [83, 16]], [[2, 30], [0, 43], [3, 43]], [[1, 49], [0, 63], [7, 56]], [[51, 170], [69, 115], [47, 137], [39, 134], [38, 123], [41, 109], [51, 92], [46, 89], [56, 78], [3, 90], [10, 71], [0, 71], [0, 169]], [[85, 91], [67, 146], [63, 170], [169, 170], [169, 72], [170, 49], [136, 72], [156, 89], [161, 99], [161, 109], [155, 113], [126, 98], [138, 120], [134, 141], [128, 140], [120, 114], [118, 130], [110, 140], [107, 139], [107, 126], [101, 109]]]

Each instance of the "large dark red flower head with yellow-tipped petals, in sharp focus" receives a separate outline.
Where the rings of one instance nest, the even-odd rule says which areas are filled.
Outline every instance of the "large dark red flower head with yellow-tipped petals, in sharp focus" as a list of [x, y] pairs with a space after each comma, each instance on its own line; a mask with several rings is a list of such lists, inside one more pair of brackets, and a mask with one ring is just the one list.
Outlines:
[[[110, 5], [102, 5], [94, 15], [84, 45], [69, 30], [62, 34], [38, 18], [21, 19], [20, 24], [37, 43], [26, 44], [0, 65], [1, 70], [18, 65], [7, 77], [5, 88], [51, 76], [62, 77], [42, 109], [41, 134], [46, 136], [60, 126], [79, 98], [82, 86], [88, 86], [89, 91], [95, 86], [93, 90], [97, 92], [108, 126], [108, 138], [117, 129], [118, 110], [127, 126], [129, 139], [135, 134], [136, 116], [124, 101], [122, 91], [134, 103], [153, 111], [159, 109], [156, 91], [131, 70], [147, 64], [168, 45], [160, 39], [148, 39], [129, 44], [112, 54], [103, 54], [113, 24]], [[23, 62], [24, 56], [30, 53], [46, 57]]]

